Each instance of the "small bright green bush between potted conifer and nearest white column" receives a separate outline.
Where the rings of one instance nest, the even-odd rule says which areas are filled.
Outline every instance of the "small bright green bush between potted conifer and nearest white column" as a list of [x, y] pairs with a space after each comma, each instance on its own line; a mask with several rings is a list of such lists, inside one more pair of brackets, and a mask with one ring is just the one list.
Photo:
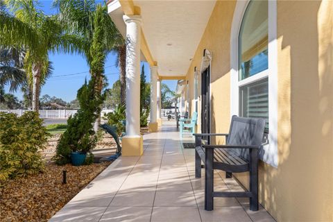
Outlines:
[[110, 126], [117, 127], [117, 134], [121, 135], [125, 131], [123, 121], [126, 119], [126, 108], [125, 105], [117, 105], [113, 112], [104, 114], [104, 120], [108, 121]]

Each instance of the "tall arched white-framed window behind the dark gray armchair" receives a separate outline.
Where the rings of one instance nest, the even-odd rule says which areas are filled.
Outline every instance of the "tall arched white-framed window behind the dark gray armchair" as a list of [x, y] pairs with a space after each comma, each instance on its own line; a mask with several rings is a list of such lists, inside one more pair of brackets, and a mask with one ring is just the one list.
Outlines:
[[268, 1], [250, 1], [239, 31], [239, 115], [266, 119], [268, 133]]

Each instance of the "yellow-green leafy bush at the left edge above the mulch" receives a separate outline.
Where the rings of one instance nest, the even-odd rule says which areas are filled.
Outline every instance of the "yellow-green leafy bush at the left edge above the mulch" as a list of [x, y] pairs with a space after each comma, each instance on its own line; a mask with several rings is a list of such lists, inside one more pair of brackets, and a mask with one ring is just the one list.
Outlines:
[[0, 112], [0, 180], [42, 171], [38, 151], [45, 148], [47, 137], [37, 112], [24, 112], [22, 117]]

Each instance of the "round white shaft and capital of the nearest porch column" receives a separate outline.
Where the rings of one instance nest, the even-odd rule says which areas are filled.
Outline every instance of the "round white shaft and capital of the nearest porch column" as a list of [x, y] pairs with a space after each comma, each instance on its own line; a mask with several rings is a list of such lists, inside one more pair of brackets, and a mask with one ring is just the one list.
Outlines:
[[126, 136], [140, 135], [141, 16], [124, 15], [126, 23]]

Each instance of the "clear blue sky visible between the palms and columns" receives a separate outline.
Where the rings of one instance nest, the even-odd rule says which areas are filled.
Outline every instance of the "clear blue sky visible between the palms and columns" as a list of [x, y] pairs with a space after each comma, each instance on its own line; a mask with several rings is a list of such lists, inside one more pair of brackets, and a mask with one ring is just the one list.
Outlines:
[[[40, 1], [40, 7], [47, 14], [55, 14], [57, 11], [51, 8], [52, 1]], [[85, 82], [85, 78], [89, 79], [89, 67], [83, 55], [65, 54], [65, 53], [49, 53], [49, 59], [53, 63], [53, 74], [46, 80], [42, 86], [40, 96], [48, 94], [56, 96], [64, 101], [70, 102], [76, 99], [76, 92]], [[116, 53], [109, 53], [105, 62], [105, 76], [108, 78], [108, 87], [112, 87], [113, 83], [119, 79], [119, 70], [116, 66]], [[147, 62], [144, 65], [144, 73], [146, 81], [151, 80], [151, 71]], [[176, 90], [177, 80], [163, 81], [171, 90]], [[8, 86], [5, 87], [8, 92]], [[22, 92], [19, 90], [14, 93], [17, 99], [22, 100]]]

